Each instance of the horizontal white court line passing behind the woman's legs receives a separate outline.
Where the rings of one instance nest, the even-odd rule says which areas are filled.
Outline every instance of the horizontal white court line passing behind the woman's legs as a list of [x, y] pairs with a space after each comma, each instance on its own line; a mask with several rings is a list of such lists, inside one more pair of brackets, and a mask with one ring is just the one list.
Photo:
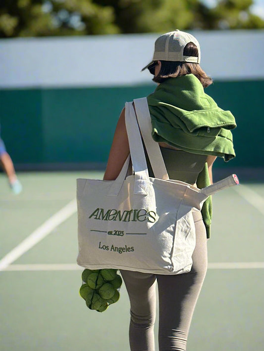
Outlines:
[[[258, 269], [264, 268], [264, 262], [211, 262], [209, 269]], [[44, 263], [44, 264], [11, 264], [5, 271], [33, 271], [33, 270], [83, 270], [84, 267], [76, 263]]]

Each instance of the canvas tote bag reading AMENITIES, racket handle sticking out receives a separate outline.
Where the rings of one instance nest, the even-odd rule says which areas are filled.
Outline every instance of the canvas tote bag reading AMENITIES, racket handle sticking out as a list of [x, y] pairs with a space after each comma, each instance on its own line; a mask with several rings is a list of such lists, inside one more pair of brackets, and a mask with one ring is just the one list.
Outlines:
[[[77, 179], [77, 263], [157, 274], [190, 271], [195, 248], [192, 211], [214, 192], [236, 184], [234, 175], [204, 189], [169, 179], [151, 136], [147, 99], [125, 104], [130, 156], [115, 180]], [[140, 130], [139, 130], [139, 125]], [[155, 177], [149, 177], [141, 135]], [[127, 175], [130, 157], [133, 175]]]

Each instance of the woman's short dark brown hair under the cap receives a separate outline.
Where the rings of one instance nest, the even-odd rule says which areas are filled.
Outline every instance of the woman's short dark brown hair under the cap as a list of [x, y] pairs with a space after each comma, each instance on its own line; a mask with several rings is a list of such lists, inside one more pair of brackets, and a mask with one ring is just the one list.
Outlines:
[[[198, 57], [198, 48], [194, 43], [188, 43], [183, 54], [185, 56], [195, 56]], [[185, 76], [187, 74], [193, 74], [202, 83], [203, 87], [206, 88], [212, 84], [212, 79], [209, 77], [205, 71], [201, 68], [199, 63], [191, 62], [179, 62], [179, 61], [160, 61], [161, 67], [160, 71], [153, 78], [156, 83], [162, 83], [168, 78], [176, 78], [179, 76]]]

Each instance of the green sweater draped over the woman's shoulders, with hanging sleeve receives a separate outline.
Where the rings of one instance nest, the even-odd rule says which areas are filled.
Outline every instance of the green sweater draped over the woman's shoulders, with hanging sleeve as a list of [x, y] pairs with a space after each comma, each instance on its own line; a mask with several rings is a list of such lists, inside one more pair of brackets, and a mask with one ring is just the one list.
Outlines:
[[[167, 79], [147, 99], [155, 141], [195, 154], [222, 157], [226, 162], [235, 157], [230, 131], [236, 128], [234, 116], [217, 106], [193, 74]], [[206, 164], [197, 186], [207, 185], [210, 179]], [[211, 196], [204, 203], [202, 215], [210, 237]]]

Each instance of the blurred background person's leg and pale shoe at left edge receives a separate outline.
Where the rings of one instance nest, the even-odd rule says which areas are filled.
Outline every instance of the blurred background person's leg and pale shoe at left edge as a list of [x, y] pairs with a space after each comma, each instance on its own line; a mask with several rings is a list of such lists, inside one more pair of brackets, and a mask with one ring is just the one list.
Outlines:
[[3, 171], [6, 173], [8, 177], [8, 182], [9, 182], [11, 191], [16, 195], [21, 193], [22, 185], [20, 181], [17, 179], [13, 161], [9, 156], [9, 154], [6, 152], [4, 142], [1, 139], [1, 135], [0, 135], [0, 164], [2, 166]]

